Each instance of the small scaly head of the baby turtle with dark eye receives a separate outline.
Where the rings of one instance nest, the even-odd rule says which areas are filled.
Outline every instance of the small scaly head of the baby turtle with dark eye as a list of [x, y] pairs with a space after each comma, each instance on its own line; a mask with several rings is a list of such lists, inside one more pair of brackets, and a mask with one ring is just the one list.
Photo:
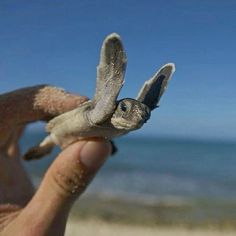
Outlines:
[[139, 129], [151, 115], [149, 107], [135, 99], [125, 98], [117, 102], [111, 117], [112, 125], [117, 129]]

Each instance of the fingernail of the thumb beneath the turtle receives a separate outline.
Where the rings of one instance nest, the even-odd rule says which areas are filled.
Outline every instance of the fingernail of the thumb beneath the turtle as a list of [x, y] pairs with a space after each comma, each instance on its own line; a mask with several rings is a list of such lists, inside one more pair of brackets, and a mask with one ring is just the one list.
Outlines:
[[97, 170], [102, 166], [110, 153], [110, 145], [104, 141], [88, 141], [80, 152], [80, 161], [89, 170]]

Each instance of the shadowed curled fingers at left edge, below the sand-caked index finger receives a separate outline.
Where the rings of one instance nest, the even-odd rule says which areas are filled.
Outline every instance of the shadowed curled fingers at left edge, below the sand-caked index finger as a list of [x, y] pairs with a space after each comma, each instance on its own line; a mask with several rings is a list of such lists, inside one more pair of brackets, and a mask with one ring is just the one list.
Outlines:
[[24, 127], [13, 127], [5, 145], [0, 147], [0, 204], [26, 205], [34, 187], [19, 158], [18, 139]]

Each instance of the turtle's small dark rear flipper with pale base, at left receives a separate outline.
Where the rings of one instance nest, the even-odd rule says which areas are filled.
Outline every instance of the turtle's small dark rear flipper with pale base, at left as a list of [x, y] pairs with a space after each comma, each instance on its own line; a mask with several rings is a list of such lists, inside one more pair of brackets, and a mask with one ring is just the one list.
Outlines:
[[27, 161], [41, 159], [49, 154], [55, 146], [51, 136], [47, 136], [38, 146], [30, 148], [23, 156]]

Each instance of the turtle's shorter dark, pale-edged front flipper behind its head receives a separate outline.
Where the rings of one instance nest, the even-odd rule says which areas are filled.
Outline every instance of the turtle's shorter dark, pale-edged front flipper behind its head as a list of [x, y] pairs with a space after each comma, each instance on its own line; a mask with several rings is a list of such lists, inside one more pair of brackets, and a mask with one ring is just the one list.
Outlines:
[[160, 98], [174, 72], [175, 65], [173, 63], [161, 67], [150, 80], [144, 83], [136, 99], [147, 105], [151, 110], [158, 107]]

